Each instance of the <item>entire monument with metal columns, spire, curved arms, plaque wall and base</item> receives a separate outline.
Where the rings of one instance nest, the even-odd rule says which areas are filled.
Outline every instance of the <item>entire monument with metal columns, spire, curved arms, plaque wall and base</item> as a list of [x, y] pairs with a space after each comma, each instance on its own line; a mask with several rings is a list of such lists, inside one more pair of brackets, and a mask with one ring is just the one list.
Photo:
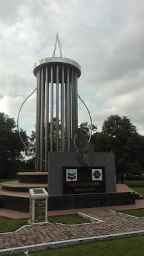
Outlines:
[[[60, 57], [55, 57], [57, 43]], [[26, 192], [45, 188], [49, 193], [49, 211], [134, 204], [131, 193], [116, 193], [115, 154], [93, 152], [90, 138], [78, 129], [77, 82], [81, 67], [76, 61], [62, 57], [58, 33], [56, 44], [52, 57], [37, 61], [33, 69], [36, 77], [35, 172], [18, 173], [19, 181], [3, 182], [2, 189]], [[91, 116], [90, 119], [92, 124]], [[19, 129], [19, 122], [17, 127]], [[1, 197], [3, 207], [15, 207], [14, 196], [11, 195], [13, 203], [4, 195]], [[15, 210], [29, 211], [28, 195], [22, 198], [17, 198]]]

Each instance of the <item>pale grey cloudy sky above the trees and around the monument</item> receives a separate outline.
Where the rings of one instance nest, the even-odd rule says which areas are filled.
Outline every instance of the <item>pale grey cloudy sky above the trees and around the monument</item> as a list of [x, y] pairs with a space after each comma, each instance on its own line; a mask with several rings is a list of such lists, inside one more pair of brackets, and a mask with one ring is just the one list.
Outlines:
[[[57, 31], [62, 56], [81, 65], [79, 95], [98, 131], [118, 114], [144, 135], [143, 0], [0, 0], [0, 112], [17, 120], [36, 88], [33, 65], [52, 56]], [[36, 93], [20, 113], [28, 134], [35, 105]], [[79, 101], [79, 123], [86, 121]]]

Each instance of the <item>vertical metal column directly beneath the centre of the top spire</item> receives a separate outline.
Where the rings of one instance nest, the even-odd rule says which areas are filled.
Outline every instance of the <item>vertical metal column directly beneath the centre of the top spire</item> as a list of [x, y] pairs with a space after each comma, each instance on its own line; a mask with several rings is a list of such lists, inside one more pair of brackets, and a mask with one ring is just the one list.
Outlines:
[[56, 151], [59, 151], [59, 66], [56, 66]]

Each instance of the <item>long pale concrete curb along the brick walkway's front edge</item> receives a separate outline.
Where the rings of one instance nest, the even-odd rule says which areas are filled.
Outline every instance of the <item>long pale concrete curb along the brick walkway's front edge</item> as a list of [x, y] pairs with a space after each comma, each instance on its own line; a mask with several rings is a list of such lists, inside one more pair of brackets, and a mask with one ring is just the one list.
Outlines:
[[21, 246], [15, 248], [8, 248], [0, 250], [0, 256], [6, 254], [15, 254], [15, 253], [24, 253], [25, 251], [36, 252], [39, 250], [46, 250], [52, 248], [66, 247], [70, 245], [82, 244], [82, 243], [92, 243], [95, 241], [104, 241], [104, 240], [112, 240], [112, 239], [120, 239], [123, 237], [131, 237], [131, 236], [141, 236], [144, 234], [144, 230], [134, 231], [134, 232], [123, 232], [120, 234], [110, 234], [106, 236], [93, 236], [93, 237], [85, 237], [79, 239], [70, 239], [65, 241], [56, 241], [51, 243], [42, 243], [42, 244], [33, 244], [28, 246]]

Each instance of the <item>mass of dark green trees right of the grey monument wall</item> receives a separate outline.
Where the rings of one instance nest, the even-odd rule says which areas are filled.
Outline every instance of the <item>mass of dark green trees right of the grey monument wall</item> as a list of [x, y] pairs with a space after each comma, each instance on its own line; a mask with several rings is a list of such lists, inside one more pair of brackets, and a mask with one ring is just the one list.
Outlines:
[[[143, 171], [144, 137], [127, 116], [111, 115], [102, 125], [102, 132], [94, 134], [96, 152], [114, 152], [116, 175], [127, 176]], [[143, 152], [143, 153], [142, 153]]]

